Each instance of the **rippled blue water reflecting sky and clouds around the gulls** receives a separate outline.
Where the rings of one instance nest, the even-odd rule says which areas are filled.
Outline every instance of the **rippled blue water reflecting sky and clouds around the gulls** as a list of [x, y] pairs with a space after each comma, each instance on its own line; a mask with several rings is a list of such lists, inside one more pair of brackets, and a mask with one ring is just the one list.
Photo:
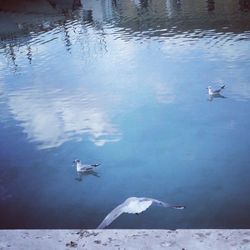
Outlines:
[[[250, 227], [250, 3], [0, 4], [0, 227]], [[207, 86], [226, 84], [225, 98]], [[74, 159], [101, 163], [78, 178]]]

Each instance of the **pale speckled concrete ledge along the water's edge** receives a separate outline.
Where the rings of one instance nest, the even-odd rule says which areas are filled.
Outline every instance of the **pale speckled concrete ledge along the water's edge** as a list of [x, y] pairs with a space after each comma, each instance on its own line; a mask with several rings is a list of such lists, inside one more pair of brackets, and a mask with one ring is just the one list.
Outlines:
[[0, 249], [250, 249], [250, 230], [0, 230]]

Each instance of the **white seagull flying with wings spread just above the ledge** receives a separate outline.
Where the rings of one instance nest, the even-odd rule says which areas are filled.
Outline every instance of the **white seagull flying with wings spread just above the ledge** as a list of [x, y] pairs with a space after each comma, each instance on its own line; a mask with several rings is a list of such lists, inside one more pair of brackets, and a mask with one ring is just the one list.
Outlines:
[[170, 207], [175, 209], [184, 209], [185, 206], [172, 205], [156, 199], [146, 197], [130, 197], [126, 199], [122, 204], [113, 209], [97, 227], [97, 229], [103, 229], [110, 225], [117, 217], [122, 213], [139, 214], [149, 208], [151, 205], [158, 205], [162, 207]]

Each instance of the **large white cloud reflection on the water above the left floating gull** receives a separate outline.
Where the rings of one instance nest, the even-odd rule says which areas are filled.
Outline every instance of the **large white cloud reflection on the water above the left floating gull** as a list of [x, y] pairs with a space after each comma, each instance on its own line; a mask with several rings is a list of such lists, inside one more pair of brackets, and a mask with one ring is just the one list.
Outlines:
[[70, 95], [61, 90], [23, 89], [11, 93], [9, 109], [30, 141], [53, 148], [87, 135], [97, 146], [121, 139], [105, 110], [83, 89]]

